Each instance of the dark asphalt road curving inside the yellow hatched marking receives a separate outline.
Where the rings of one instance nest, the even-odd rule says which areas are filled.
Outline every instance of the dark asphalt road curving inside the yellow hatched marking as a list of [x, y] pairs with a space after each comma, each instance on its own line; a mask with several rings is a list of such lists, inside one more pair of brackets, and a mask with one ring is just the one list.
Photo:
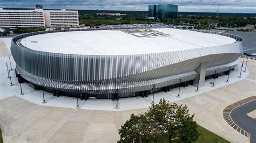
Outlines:
[[251, 143], [256, 142], [256, 119], [247, 116], [247, 113], [256, 109], [256, 100], [235, 108], [231, 112], [231, 118], [235, 124], [251, 134]]

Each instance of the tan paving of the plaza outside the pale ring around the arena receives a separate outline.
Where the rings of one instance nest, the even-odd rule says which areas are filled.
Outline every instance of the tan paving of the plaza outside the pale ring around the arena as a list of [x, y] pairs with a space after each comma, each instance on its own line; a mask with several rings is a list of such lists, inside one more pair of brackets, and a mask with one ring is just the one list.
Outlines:
[[[248, 142], [248, 138], [233, 130], [222, 115], [226, 105], [256, 95], [255, 61], [248, 60], [247, 68], [250, 74], [241, 81], [176, 102], [186, 104], [190, 113], [195, 113], [194, 120], [207, 130], [231, 142]], [[100, 111], [38, 105], [15, 96], [18, 87], [12, 92], [2, 92], [5, 91], [3, 88], [9, 89], [3, 82], [8, 78], [2, 71], [4, 68], [1, 68], [1, 84], [4, 86], [1, 86], [0, 94], [4, 142], [116, 142], [118, 128], [131, 113], [138, 115], [148, 109]]]

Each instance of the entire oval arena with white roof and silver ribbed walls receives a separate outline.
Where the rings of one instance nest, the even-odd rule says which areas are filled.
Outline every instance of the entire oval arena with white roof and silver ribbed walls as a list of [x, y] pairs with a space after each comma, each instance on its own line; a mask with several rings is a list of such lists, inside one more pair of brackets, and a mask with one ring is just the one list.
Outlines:
[[114, 99], [203, 87], [239, 63], [242, 41], [173, 28], [60, 30], [18, 35], [11, 53], [19, 82], [57, 96]]

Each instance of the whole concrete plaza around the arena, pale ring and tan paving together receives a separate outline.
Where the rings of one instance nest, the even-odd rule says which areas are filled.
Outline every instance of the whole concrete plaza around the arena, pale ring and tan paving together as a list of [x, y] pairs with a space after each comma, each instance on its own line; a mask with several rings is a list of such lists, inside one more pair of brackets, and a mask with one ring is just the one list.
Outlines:
[[[111, 100], [80, 101], [81, 109], [75, 109], [76, 99], [52, 97], [47, 93], [48, 103], [42, 104], [42, 91], [33, 90], [29, 84], [22, 84], [25, 95], [19, 96], [14, 71], [11, 71], [14, 86], [10, 87], [10, 79], [6, 78], [4, 64], [10, 55], [8, 42], [0, 39], [0, 123], [4, 142], [116, 142], [119, 139], [118, 129], [131, 113], [144, 113], [150, 106], [152, 95], [120, 99], [118, 110], [113, 108], [115, 102]], [[181, 88], [183, 94], [181, 99], [177, 99], [176, 88], [155, 94], [156, 102], [165, 97], [170, 102], [186, 104], [190, 113], [195, 113], [194, 120], [207, 130], [231, 142], [248, 142], [248, 138], [233, 130], [222, 116], [226, 105], [255, 96], [255, 60], [248, 60], [247, 68], [250, 74], [242, 72], [242, 79], [238, 78], [238, 67], [231, 75], [230, 83], [225, 83], [226, 76], [220, 76], [214, 88], [210, 86], [212, 81], [207, 80], [200, 92], [195, 92], [196, 88], [192, 86]]]

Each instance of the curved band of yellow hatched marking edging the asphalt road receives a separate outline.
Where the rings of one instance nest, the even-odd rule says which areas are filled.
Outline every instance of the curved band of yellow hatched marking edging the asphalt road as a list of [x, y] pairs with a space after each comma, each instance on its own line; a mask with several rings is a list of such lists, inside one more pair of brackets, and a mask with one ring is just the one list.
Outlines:
[[[249, 102], [254, 101], [254, 100], [256, 100], [256, 96], [247, 97], [247, 98], [241, 99], [238, 102], [227, 105], [223, 109], [223, 118], [227, 122], [227, 124], [230, 125], [230, 127], [232, 127], [234, 130], [238, 131], [239, 133], [241, 133], [242, 135], [247, 137], [249, 140], [251, 139], [251, 134], [234, 123], [233, 119], [231, 118], [231, 112], [235, 108], [238, 108], [239, 106], [244, 105], [244, 104], [249, 103]], [[237, 126], [236, 129], [235, 129], [235, 126]]]

